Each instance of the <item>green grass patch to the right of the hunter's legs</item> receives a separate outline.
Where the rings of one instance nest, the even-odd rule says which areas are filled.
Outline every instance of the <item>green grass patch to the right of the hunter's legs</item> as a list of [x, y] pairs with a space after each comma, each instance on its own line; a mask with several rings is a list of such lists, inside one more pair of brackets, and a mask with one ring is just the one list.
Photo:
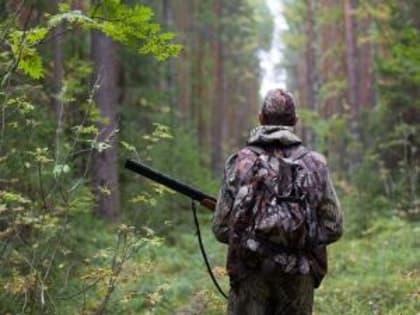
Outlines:
[[330, 248], [330, 272], [316, 292], [315, 314], [418, 314], [420, 227], [382, 219], [362, 238]]

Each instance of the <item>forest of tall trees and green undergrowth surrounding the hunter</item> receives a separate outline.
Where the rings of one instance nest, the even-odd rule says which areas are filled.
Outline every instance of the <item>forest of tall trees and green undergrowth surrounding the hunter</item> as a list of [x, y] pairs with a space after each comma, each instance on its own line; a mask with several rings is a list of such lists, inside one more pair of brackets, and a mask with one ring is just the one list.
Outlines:
[[314, 314], [419, 314], [419, 0], [0, 0], [0, 314], [224, 314], [191, 201], [124, 162], [216, 196], [272, 49], [344, 212]]

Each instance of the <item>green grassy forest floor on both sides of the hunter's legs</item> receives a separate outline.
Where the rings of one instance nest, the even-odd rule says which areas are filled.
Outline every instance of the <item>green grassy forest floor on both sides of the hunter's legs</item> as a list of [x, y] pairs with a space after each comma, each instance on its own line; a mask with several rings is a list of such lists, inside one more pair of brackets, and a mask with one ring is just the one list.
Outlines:
[[[227, 290], [225, 248], [209, 232], [209, 222], [202, 229], [213, 269]], [[141, 283], [159, 288], [152, 314], [224, 314], [225, 300], [211, 283], [193, 230], [149, 255], [153, 272]], [[360, 238], [344, 236], [330, 247], [329, 268], [316, 290], [314, 314], [420, 314], [420, 226], [381, 219]]]

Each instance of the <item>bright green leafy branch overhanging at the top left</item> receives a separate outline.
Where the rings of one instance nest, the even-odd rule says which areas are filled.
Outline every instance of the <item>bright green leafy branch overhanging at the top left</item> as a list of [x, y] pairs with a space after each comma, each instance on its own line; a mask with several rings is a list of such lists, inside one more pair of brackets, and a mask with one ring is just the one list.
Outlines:
[[55, 27], [64, 22], [68, 29], [78, 25], [86, 30], [99, 30], [117, 42], [135, 47], [141, 54], [155, 56], [159, 61], [178, 55], [181, 46], [170, 43], [174, 34], [162, 33], [159, 24], [153, 23], [152, 18], [150, 8], [127, 6], [121, 1], [101, 1], [91, 9], [89, 15], [78, 10], [72, 11], [68, 5], [62, 4], [60, 12], [48, 15], [44, 25], [25, 30], [13, 29], [6, 33], [6, 45], [13, 58], [10, 70], [17, 68], [32, 79], [42, 78], [44, 68], [38, 46]]

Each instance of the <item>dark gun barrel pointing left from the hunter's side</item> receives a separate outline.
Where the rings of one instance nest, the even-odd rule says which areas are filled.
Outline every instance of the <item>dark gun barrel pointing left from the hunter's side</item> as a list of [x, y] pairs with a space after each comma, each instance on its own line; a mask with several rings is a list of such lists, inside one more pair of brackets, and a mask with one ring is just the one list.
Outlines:
[[132, 160], [126, 160], [125, 168], [147, 177], [163, 186], [166, 186], [176, 192], [179, 192], [191, 199], [199, 201], [203, 206], [210, 210], [214, 210], [216, 205], [216, 199], [208, 194], [199, 191], [187, 184], [184, 184], [176, 179], [173, 179], [165, 174], [158, 172], [157, 170], [144, 165], [143, 163], [134, 162]]

